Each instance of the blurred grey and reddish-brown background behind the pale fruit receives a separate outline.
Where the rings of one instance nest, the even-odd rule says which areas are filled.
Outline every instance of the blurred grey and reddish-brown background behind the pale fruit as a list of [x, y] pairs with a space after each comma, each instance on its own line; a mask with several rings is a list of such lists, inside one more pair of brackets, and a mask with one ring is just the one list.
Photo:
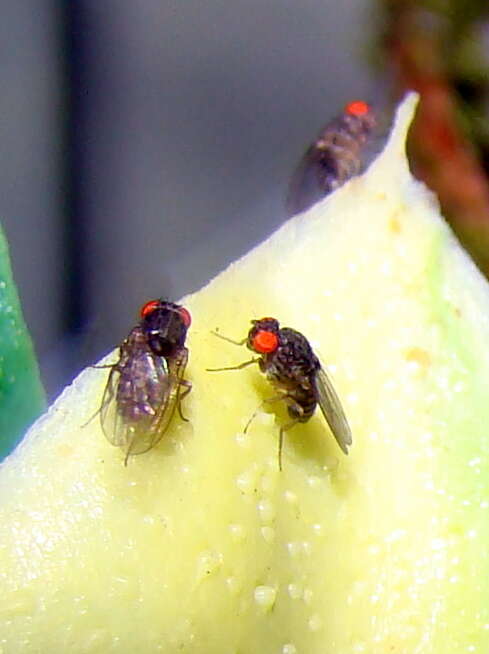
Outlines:
[[488, 11], [4, 2], [0, 221], [48, 396], [144, 301], [198, 289], [276, 228], [298, 159], [352, 99], [422, 93], [417, 174], [487, 270]]

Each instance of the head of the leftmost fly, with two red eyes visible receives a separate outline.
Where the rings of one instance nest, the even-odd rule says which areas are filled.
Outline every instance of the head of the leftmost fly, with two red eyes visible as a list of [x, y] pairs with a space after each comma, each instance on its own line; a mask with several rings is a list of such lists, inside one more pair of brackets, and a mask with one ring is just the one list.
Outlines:
[[154, 354], [171, 357], [185, 345], [192, 321], [185, 307], [165, 300], [151, 300], [142, 307], [141, 318], [141, 328]]

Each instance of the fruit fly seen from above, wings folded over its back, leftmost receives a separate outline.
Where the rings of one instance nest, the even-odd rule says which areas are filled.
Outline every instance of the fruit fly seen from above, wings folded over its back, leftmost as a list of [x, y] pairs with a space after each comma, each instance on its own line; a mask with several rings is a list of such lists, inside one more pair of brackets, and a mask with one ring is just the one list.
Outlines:
[[[191, 384], [183, 378], [190, 313], [164, 300], [151, 300], [141, 309], [140, 322], [119, 348], [99, 410], [107, 440], [129, 456], [154, 447], [170, 424]], [[182, 390], [183, 389], [183, 390]]]

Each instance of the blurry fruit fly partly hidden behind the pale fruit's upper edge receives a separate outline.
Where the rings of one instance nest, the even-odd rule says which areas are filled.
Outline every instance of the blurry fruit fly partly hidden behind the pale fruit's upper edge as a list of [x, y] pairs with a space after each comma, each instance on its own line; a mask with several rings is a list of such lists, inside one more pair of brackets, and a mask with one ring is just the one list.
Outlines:
[[292, 177], [287, 198], [290, 215], [308, 209], [361, 172], [377, 125], [372, 107], [356, 100], [323, 127]]

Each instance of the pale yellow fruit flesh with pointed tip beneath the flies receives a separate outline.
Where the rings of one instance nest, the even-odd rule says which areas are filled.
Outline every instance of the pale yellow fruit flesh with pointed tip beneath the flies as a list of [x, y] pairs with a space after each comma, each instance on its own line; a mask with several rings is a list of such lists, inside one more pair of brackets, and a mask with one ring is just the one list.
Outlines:
[[[415, 104], [364, 176], [185, 298], [190, 422], [124, 467], [83, 426], [88, 369], [4, 463], [2, 654], [487, 654], [489, 292], [409, 173]], [[283, 407], [243, 434], [273, 389], [207, 372], [250, 358], [210, 330], [263, 316], [321, 357], [349, 456], [319, 411], [282, 472]]]

